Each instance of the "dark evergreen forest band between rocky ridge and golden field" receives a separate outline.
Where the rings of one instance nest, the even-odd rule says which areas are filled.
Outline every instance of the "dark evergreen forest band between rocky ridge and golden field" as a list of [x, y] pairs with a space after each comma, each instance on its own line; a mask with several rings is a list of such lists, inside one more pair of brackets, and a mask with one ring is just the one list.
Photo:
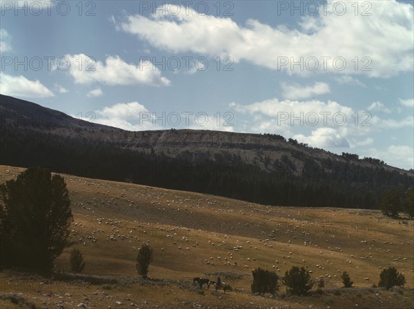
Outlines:
[[[50, 133], [1, 127], [0, 164], [49, 167], [54, 172], [80, 177], [202, 192], [279, 206], [317, 206], [378, 209], [391, 188], [413, 186], [412, 175], [389, 172], [381, 166], [362, 168], [348, 161], [302, 156], [295, 170], [287, 156], [264, 164], [274, 172], [246, 164], [228, 152], [182, 152], [176, 158], [149, 149], [138, 152], [114, 143], [61, 137]], [[293, 154], [295, 158], [301, 153]], [[321, 166], [322, 163], [322, 166]]]

